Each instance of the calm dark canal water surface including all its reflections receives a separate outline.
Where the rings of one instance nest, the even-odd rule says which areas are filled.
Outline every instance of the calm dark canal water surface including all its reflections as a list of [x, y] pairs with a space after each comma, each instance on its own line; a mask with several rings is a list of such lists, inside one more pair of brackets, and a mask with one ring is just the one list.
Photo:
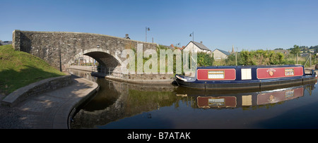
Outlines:
[[318, 128], [316, 83], [249, 91], [202, 91], [172, 85], [138, 85], [90, 76], [100, 85], [78, 108], [71, 128], [264, 129]]

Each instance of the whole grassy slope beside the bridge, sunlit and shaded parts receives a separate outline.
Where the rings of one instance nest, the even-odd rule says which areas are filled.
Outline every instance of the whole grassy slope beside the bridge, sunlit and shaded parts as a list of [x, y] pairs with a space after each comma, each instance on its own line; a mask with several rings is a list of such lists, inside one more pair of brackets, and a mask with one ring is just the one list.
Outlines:
[[33, 82], [65, 75], [49, 66], [41, 58], [23, 51], [15, 51], [12, 45], [0, 46], [0, 94], [10, 94]]

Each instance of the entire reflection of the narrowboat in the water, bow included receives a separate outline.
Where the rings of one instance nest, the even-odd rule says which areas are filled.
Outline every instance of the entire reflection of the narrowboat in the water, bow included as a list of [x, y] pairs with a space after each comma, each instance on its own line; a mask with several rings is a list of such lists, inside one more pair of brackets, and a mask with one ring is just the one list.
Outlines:
[[276, 104], [283, 101], [298, 99], [305, 94], [312, 95], [314, 85], [311, 82], [307, 85], [283, 86], [269, 88], [266, 90], [201, 90], [178, 87], [176, 95], [192, 101], [192, 106], [197, 108], [240, 108], [252, 106], [264, 106]]

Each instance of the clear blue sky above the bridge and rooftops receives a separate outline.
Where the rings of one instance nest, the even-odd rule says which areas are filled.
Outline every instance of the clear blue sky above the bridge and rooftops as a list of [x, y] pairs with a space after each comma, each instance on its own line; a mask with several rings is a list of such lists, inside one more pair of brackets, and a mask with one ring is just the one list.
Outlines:
[[318, 45], [317, 0], [0, 0], [0, 39], [13, 30], [89, 32], [170, 45], [288, 49]]

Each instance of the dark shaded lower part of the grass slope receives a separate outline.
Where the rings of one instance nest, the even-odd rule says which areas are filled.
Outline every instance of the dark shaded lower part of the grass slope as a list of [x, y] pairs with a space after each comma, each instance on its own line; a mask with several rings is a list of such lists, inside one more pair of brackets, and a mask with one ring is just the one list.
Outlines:
[[0, 94], [10, 94], [20, 87], [25, 87], [31, 83], [45, 80], [49, 77], [58, 77], [63, 74], [47, 72], [40, 68], [24, 66], [20, 71], [7, 69], [0, 71]]

